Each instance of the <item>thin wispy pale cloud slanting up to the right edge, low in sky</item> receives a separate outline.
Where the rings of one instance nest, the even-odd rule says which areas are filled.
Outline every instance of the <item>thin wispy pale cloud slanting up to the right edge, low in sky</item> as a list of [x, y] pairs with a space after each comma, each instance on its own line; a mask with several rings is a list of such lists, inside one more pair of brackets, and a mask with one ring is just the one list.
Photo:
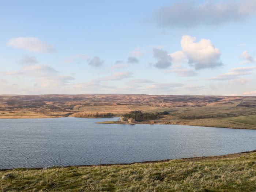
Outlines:
[[252, 74], [252, 70], [256, 69], [256, 67], [238, 67], [233, 68], [230, 72], [221, 74], [212, 78], [208, 78], [207, 80], [231, 80], [236, 79], [239, 76], [250, 75]]

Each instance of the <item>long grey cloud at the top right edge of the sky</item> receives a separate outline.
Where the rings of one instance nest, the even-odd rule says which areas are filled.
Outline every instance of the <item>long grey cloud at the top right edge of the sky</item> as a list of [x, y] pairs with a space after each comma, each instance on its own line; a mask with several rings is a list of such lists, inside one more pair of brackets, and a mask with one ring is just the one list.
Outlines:
[[178, 1], [157, 11], [157, 21], [162, 26], [195, 27], [243, 22], [256, 14], [255, 0], [238, 1]]

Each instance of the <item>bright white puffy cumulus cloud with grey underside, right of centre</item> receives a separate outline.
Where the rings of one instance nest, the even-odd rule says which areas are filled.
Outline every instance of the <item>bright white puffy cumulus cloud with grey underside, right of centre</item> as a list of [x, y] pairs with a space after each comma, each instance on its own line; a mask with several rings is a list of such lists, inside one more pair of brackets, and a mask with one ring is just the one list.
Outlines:
[[183, 35], [181, 38], [181, 48], [188, 57], [188, 63], [195, 69], [214, 68], [222, 64], [220, 60], [221, 52], [215, 48], [209, 39], [201, 39], [195, 42], [196, 38]]

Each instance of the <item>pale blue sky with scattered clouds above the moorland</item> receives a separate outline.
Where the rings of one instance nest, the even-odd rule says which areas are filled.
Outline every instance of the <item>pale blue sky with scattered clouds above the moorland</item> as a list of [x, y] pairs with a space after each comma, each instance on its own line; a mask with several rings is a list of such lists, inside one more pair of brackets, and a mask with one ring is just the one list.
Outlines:
[[256, 95], [256, 0], [3, 0], [0, 94]]

